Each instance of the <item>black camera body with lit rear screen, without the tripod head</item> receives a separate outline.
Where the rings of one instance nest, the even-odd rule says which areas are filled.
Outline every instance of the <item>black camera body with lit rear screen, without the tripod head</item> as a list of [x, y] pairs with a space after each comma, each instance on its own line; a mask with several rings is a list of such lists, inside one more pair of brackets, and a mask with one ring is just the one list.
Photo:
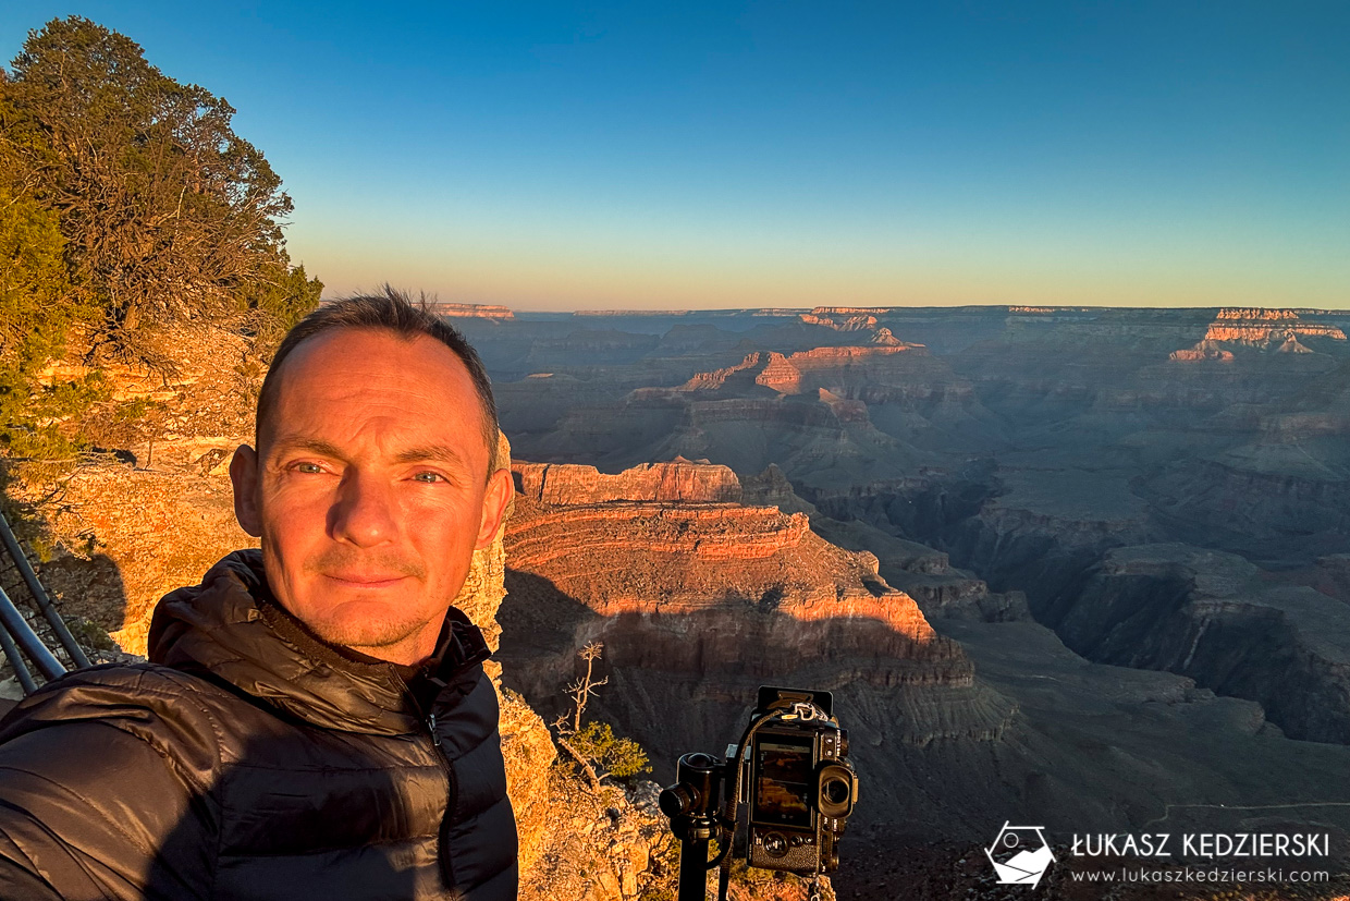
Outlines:
[[[829, 692], [761, 688], [755, 719], [803, 709], [815, 716], [776, 717], [751, 738], [748, 862], [790, 873], [832, 873], [836, 846], [857, 801], [848, 762], [848, 733], [833, 717]], [[824, 715], [824, 716], [821, 716]]]

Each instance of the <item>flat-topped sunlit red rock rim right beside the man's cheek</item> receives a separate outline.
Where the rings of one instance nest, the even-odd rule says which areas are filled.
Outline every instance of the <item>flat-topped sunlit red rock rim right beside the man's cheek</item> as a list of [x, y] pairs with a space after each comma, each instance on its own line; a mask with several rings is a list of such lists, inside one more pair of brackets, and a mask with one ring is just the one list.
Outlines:
[[541, 504], [603, 504], [609, 501], [663, 501], [722, 504], [741, 500], [741, 484], [726, 466], [643, 463], [617, 475], [594, 466], [512, 462], [516, 490]]

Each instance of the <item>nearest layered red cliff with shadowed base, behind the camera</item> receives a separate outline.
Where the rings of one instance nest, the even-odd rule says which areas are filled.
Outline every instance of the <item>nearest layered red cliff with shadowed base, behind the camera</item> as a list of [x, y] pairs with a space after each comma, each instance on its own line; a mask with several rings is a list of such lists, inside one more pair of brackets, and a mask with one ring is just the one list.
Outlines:
[[[825, 542], [802, 512], [518, 496], [505, 547], [508, 684], [556, 702], [576, 650], [602, 642], [598, 709], [652, 752], [657, 775], [734, 739], [761, 684], [848, 698], [857, 755], [879, 771], [896, 747], [995, 740], [1015, 716], [875, 555]], [[899, 786], [875, 790], [894, 801]]]

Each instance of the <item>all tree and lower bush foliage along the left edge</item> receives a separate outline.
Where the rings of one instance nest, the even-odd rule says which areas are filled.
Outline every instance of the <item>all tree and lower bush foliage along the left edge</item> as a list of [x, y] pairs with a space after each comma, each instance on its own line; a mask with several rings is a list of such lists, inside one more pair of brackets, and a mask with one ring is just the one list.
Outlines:
[[171, 371], [153, 330], [216, 321], [265, 358], [317, 305], [323, 285], [285, 250], [290, 199], [234, 112], [78, 16], [0, 70], [0, 481], [15, 459], [144, 438], [144, 403], [113, 403], [97, 371], [47, 371], [72, 338], [84, 362]]

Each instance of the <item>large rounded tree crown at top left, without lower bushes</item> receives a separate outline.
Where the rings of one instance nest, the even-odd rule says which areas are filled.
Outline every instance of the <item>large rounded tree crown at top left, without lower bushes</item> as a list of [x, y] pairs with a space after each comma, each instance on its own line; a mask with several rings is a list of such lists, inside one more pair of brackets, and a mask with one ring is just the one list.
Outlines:
[[146, 326], [256, 311], [262, 332], [313, 307], [281, 235], [290, 197], [223, 99], [77, 16], [28, 35], [0, 95], [5, 150], [63, 240], [59, 294], [100, 340], [138, 358]]

